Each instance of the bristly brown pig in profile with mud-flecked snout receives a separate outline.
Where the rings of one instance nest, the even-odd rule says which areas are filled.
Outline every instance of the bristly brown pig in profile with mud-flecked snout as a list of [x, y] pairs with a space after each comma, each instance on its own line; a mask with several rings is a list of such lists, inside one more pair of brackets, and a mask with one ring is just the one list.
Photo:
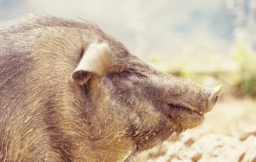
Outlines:
[[85, 20], [0, 23], [0, 161], [133, 161], [197, 127], [223, 86], [167, 75]]

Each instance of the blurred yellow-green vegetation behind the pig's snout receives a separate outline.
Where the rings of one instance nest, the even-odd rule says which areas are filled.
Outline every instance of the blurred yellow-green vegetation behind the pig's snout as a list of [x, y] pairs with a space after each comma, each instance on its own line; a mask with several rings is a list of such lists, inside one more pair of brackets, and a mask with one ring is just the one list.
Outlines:
[[256, 52], [246, 43], [236, 43], [230, 55], [197, 55], [190, 51], [173, 60], [149, 57], [154, 67], [189, 78], [208, 87], [224, 85], [223, 95], [256, 98]]

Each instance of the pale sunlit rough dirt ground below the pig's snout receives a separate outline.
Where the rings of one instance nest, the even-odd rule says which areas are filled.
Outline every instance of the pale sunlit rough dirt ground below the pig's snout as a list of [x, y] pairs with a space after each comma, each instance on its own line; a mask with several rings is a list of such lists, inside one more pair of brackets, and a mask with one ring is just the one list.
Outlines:
[[136, 162], [256, 162], [256, 100], [219, 101], [203, 124], [140, 154]]

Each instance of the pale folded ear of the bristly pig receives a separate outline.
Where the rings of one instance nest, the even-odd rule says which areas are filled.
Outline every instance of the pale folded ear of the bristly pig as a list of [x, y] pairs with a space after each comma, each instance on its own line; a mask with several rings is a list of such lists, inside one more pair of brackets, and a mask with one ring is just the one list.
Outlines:
[[99, 77], [105, 74], [110, 66], [111, 55], [108, 43], [91, 44], [72, 74], [72, 80], [79, 85], [85, 84], [96, 74]]

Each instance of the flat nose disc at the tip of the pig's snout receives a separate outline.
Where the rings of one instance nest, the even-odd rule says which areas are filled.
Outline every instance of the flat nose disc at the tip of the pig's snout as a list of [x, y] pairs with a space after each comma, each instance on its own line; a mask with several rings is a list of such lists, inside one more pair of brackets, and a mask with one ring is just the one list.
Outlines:
[[213, 109], [213, 107], [215, 106], [215, 104], [218, 102], [218, 99], [220, 98], [220, 95], [222, 93], [223, 86], [219, 85], [214, 88], [206, 87], [205, 89], [206, 89], [206, 92], [209, 94], [209, 98], [208, 98], [208, 102], [207, 102], [207, 109], [206, 109], [206, 112], [204, 112], [204, 113], [207, 113], [207, 112], [211, 111]]

